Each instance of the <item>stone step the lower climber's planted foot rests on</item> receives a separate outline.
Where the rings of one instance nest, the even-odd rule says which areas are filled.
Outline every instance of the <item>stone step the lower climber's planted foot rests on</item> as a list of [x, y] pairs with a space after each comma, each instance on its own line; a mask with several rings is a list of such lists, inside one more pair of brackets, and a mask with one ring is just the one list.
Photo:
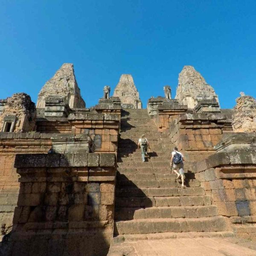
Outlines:
[[202, 187], [184, 188], [116, 188], [116, 197], [170, 197], [205, 195]]

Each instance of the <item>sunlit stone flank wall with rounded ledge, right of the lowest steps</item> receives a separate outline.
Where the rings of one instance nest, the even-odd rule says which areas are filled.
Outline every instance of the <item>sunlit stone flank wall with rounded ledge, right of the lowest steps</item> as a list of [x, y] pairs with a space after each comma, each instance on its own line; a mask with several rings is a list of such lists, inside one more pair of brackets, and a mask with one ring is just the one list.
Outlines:
[[240, 148], [218, 152], [198, 162], [194, 170], [219, 214], [228, 217], [236, 235], [255, 240], [256, 151]]

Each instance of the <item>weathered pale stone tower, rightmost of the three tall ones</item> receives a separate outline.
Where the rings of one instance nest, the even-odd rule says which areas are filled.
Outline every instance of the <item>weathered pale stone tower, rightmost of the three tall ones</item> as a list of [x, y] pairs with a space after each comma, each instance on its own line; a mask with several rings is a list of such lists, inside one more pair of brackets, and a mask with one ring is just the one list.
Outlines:
[[216, 99], [214, 89], [207, 84], [203, 76], [192, 66], [184, 66], [179, 74], [175, 99], [188, 108], [195, 108], [201, 100]]

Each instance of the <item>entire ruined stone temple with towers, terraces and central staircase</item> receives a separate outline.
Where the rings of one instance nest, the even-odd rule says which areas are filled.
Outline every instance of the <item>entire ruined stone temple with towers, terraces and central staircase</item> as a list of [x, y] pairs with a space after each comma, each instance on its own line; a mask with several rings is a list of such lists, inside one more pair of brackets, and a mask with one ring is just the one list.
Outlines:
[[86, 108], [63, 64], [37, 105], [0, 100], [0, 256], [255, 256], [256, 100], [220, 108], [192, 66], [146, 109], [131, 75], [109, 92]]

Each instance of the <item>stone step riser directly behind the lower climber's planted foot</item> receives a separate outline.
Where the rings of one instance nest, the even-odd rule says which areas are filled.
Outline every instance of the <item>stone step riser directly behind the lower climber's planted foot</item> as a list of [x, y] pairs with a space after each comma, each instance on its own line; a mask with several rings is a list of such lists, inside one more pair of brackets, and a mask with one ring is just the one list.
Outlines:
[[[199, 187], [201, 184], [198, 180], [188, 180], [184, 182], [186, 187]], [[118, 188], [177, 188], [181, 187], [181, 181], [173, 180], [118, 180]]]

